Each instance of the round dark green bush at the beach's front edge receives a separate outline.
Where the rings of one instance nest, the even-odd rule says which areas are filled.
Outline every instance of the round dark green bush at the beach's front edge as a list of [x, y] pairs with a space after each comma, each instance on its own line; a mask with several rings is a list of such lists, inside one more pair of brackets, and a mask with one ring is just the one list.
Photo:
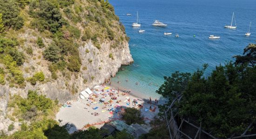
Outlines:
[[135, 123], [138, 123], [138, 124], [144, 123], [143, 117], [141, 116], [141, 111], [134, 107], [126, 108], [125, 112], [121, 116], [122, 116], [122, 119], [125, 120], [128, 125], [135, 124]]

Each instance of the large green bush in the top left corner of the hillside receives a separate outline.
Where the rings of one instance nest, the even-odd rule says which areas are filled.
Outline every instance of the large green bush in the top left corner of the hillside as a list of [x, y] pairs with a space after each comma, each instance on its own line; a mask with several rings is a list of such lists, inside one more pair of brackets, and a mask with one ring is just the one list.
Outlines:
[[24, 20], [19, 16], [19, 5], [15, 0], [0, 0], [0, 13], [6, 28], [19, 30], [24, 25]]

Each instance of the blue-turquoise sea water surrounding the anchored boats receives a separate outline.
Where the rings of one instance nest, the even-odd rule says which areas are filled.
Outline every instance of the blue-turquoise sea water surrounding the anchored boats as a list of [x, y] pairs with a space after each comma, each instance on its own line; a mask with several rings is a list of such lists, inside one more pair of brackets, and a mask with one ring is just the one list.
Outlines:
[[[177, 70], [193, 72], [203, 63], [209, 64], [207, 75], [216, 65], [242, 54], [249, 43], [256, 43], [256, 0], [109, 1], [125, 25], [135, 61], [130, 66], [122, 66], [112, 83], [120, 81], [119, 86], [130, 88], [137, 93], [135, 95], [159, 97], [155, 90], [163, 83], [163, 76], [170, 76]], [[144, 33], [131, 26], [136, 22], [137, 11], [141, 29], [146, 30]], [[224, 25], [230, 25], [233, 12], [237, 29], [225, 29]], [[155, 20], [168, 26], [154, 27], [151, 24]], [[245, 37], [250, 21], [251, 36]], [[164, 36], [165, 31], [173, 34]], [[179, 38], [175, 37], [176, 33]], [[210, 40], [209, 35], [221, 38]]]

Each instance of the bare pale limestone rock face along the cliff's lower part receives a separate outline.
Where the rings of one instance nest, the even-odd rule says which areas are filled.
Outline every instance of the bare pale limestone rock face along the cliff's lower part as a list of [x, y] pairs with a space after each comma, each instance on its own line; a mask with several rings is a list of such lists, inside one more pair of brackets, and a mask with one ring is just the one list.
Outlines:
[[[42, 51], [37, 47], [33, 47], [33, 49], [35, 53]], [[8, 125], [11, 123], [18, 127], [17, 122], [7, 118], [9, 95], [18, 94], [27, 97], [28, 90], [37, 90], [39, 94], [46, 95], [51, 99], [58, 99], [61, 103], [75, 100], [83, 89], [94, 88], [94, 86], [102, 84], [111, 76], [115, 76], [121, 65], [128, 65], [133, 62], [127, 42], [116, 48], [111, 48], [110, 44], [105, 42], [101, 44], [101, 49], [98, 49], [89, 41], [81, 45], [78, 50], [82, 63], [81, 70], [76, 73], [69, 72], [69, 79], [65, 77], [65, 73], [61, 72], [58, 72], [57, 80], [51, 79], [51, 72], [48, 69], [49, 62], [43, 58], [31, 58], [21, 66], [24, 77], [31, 77], [35, 72], [43, 71], [46, 77], [44, 82], [37, 82], [36, 85], [26, 82], [25, 88], [11, 88], [8, 82], [5, 85], [0, 85], [0, 130], [7, 131]], [[40, 64], [37, 64], [38, 62]], [[33, 67], [33, 70], [26, 73], [27, 67]]]

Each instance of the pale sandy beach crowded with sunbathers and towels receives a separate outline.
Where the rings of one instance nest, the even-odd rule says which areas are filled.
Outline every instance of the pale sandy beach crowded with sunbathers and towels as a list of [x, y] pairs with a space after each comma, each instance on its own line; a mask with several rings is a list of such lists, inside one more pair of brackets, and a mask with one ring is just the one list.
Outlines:
[[[155, 98], [151, 98], [152, 103], [148, 104], [149, 98], [141, 99], [124, 93], [123, 90], [119, 90], [118, 93], [118, 89], [112, 86], [97, 86], [92, 91], [94, 93], [90, 95], [90, 99], [82, 100], [78, 96], [76, 101], [70, 101], [71, 104], [63, 104], [56, 114], [56, 120], [60, 121], [60, 126], [65, 124], [69, 126], [69, 133], [92, 125], [100, 128], [106, 122], [120, 119], [121, 109], [127, 107], [139, 109], [138, 105], [143, 105], [141, 114], [146, 123], [159, 113]], [[155, 109], [155, 112], [149, 110], [150, 106], [152, 110]]]

